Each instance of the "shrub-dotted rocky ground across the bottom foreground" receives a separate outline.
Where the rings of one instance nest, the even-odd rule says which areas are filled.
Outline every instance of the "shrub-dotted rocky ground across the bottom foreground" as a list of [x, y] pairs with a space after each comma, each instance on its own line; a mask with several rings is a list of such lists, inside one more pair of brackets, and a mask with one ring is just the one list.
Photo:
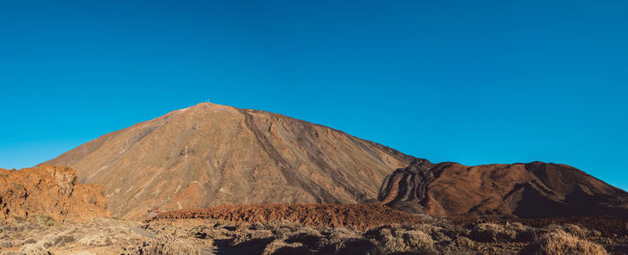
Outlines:
[[617, 225], [625, 222], [603, 220], [599, 230], [551, 221], [529, 226], [437, 217], [366, 230], [216, 219], [13, 222], [0, 225], [0, 254], [625, 254], [628, 231]]

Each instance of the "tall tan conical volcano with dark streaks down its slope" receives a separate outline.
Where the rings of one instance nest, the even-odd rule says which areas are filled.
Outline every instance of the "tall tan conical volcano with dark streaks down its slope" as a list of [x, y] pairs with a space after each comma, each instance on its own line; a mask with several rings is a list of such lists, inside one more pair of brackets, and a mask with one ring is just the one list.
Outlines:
[[137, 123], [42, 165], [106, 190], [114, 215], [222, 204], [375, 200], [414, 157], [284, 115], [199, 104]]

